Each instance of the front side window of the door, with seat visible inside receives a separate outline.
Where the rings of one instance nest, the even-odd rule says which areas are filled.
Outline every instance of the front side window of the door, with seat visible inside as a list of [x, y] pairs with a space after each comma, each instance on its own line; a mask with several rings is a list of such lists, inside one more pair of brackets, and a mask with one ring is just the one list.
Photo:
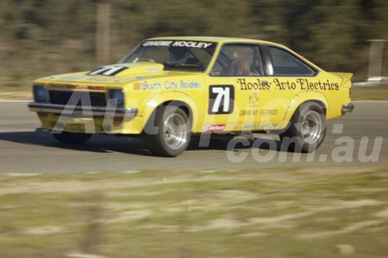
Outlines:
[[211, 76], [259, 76], [262, 61], [258, 46], [227, 44], [222, 46]]

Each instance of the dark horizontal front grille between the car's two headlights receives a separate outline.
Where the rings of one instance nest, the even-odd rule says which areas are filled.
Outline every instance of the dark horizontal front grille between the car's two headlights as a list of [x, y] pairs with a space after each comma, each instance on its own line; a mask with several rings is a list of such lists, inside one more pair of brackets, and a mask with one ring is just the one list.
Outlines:
[[[85, 100], [90, 98], [90, 103], [92, 107], [105, 107], [106, 98], [104, 92], [88, 92], [88, 91], [49, 91], [50, 93], [50, 103], [59, 104], [59, 105], [74, 105], [74, 103], [69, 103], [71, 96], [72, 100], [78, 101], [77, 106], [81, 106], [81, 99]], [[74, 94], [74, 95], [73, 95]], [[85, 102], [84, 102], [85, 104]]]

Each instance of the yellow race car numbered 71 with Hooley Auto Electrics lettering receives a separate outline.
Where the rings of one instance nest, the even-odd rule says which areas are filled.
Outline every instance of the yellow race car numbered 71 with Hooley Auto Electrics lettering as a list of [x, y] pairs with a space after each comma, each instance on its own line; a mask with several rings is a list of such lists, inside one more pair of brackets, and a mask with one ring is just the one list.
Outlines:
[[272, 131], [308, 152], [327, 119], [353, 110], [351, 77], [267, 41], [150, 38], [118, 64], [35, 80], [28, 107], [67, 143], [137, 135], [155, 155], [175, 157], [193, 135]]

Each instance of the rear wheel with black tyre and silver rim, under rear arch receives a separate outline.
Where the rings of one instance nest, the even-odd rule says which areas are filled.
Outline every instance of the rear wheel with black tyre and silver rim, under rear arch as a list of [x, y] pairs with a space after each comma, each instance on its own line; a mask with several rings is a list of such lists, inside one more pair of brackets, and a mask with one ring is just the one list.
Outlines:
[[322, 144], [326, 134], [326, 115], [317, 102], [303, 103], [295, 111], [286, 131], [279, 134], [282, 148], [294, 152], [312, 152]]

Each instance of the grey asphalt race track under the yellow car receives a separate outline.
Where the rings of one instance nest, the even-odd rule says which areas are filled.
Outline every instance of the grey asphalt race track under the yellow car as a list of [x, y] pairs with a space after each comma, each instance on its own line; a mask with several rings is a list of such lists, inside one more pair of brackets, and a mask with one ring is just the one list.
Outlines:
[[198, 147], [193, 140], [189, 150], [177, 158], [153, 157], [137, 138], [97, 135], [81, 146], [59, 143], [49, 132], [36, 131], [40, 123], [26, 105], [26, 101], [0, 101], [1, 173], [388, 165], [388, 101], [355, 102], [353, 113], [329, 121], [326, 139], [313, 154], [279, 150], [276, 135], [257, 134], [253, 147], [237, 144], [234, 149], [222, 141]]

